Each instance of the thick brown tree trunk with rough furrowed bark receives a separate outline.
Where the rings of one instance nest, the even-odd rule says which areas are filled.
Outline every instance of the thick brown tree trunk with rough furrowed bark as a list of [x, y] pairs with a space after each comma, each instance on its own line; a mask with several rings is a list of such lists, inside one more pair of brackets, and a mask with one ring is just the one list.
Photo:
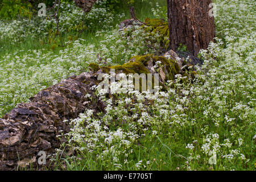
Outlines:
[[212, 0], [167, 0], [170, 47], [180, 44], [196, 55], [215, 37], [214, 17], [209, 15]]

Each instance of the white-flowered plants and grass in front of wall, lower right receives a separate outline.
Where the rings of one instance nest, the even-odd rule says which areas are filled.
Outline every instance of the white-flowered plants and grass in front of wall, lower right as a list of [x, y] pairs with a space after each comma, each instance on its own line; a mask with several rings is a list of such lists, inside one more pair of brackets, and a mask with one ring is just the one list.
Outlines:
[[[253, 1], [239, 15], [232, 8], [241, 1], [217, 2], [223, 5], [217, 35], [225, 41], [200, 52], [205, 62], [193, 84], [176, 75], [149, 105], [135, 102], [143, 96], [134, 93], [103, 98], [106, 113], [87, 110], [71, 121], [64, 146], [78, 155], [56, 156], [55, 169], [255, 170]], [[210, 164], [214, 153], [216, 164]]]

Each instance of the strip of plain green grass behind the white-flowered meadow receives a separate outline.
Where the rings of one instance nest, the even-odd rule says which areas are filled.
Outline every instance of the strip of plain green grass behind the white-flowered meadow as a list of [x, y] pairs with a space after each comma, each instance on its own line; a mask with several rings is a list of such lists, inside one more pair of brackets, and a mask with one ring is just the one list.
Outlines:
[[[151, 1], [152, 5], [154, 5], [156, 2], [159, 3], [160, 6], [166, 6], [166, 1], [164, 0], [154, 0]], [[141, 2], [141, 1], [135, 1], [134, 3], [135, 7], [135, 13], [138, 19], [143, 21], [145, 18], [155, 18], [155, 16], [151, 12], [152, 6], [148, 2]], [[117, 14], [124, 13], [125, 17], [124, 19], [130, 18], [129, 8], [122, 4], [120, 6], [120, 9], [115, 12]], [[114, 18], [114, 21], [109, 24], [110, 28], [107, 29], [107, 31], [111, 31], [115, 28], [115, 25], [120, 23], [119, 18]], [[113, 26], [113, 27], [112, 27]], [[85, 39], [86, 44], [98, 44], [100, 40], [103, 38], [96, 38], [96, 32], [102, 30], [101, 27], [93, 27], [89, 30], [85, 30], [82, 33], [80, 32], [69, 32], [68, 34], [63, 33], [60, 36], [57, 36], [61, 39], [61, 43], [66, 42], [68, 40], [68, 36], [77, 36], [78, 38]], [[41, 37], [41, 36], [39, 36]], [[16, 44], [6, 44], [6, 41], [0, 40], [0, 57], [3, 55], [6, 55], [7, 53], [13, 53], [19, 50], [24, 50], [24, 53], [26, 53], [28, 50], [38, 50], [38, 49], [46, 49], [47, 51], [51, 51], [51, 44], [41, 44], [39, 40], [42, 40], [42, 38], [26, 38], [22, 40], [22, 42], [18, 42]], [[43, 39], [43, 42], [47, 43], [48, 39]], [[63, 47], [57, 47], [56, 48], [56, 55], [58, 54], [58, 51], [63, 49]]]

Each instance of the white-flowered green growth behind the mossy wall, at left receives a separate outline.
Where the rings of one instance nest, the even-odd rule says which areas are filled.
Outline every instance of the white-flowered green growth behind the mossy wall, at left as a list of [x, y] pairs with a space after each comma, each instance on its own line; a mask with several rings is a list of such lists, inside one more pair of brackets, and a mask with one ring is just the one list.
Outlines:
[[[154, 18], [151, 6], [135, 3], [138, 3], [135, 7], [138, 18]], [[0, 106], [0, 115], [28, 101], [40, 89], [59, 81], [59, 77], [80, 73], [80, 69], [88, 70], [89, 63], [123, 64], [136, 55], [155, 55], [159, 49], [159, 35], [148, 36], [141, 26], [126, 31], [115, 27], [130, 17], [125, 7], [121, 12], [127, 11], [127, 14], [113, 14], [108, 8], [93, 7], [85, 16], [86, 30], [80, 33], [82, 10], [68, 5], [63, 2], [60, 6], [58, 36], [54, 18], [36, 15], [31, 20], [0, 20], [0, 103], [10, 102]]]

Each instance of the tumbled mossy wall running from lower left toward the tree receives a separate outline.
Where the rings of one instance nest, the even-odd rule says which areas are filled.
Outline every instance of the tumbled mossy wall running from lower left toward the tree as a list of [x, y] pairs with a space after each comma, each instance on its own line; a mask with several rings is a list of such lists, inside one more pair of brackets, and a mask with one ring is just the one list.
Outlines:
[[[177, 58], [174, 51], [168, 51], [163, 56], [172, 60]], [[142, 57], [145, 60], [142, 61]], [[137, 59], [142, 61], [141, 65], [138, 65]], [[164, 57], [153, 55], [135, 56], [129, 63], [113, 68], [116, 68], [116, 73], [133, 70], [133, 72], [138, 70], [137, 73], [140, 73], [140, 69], [147, 70], [148, 73], [156, 73], [153, 68], [156, 60], [162, 60], [164, 63], [159, 69], [160, 82], [167, 81], [171, 74], [174, 77], [172, 73], [174, 68], [177, 69], [176, 74], [182, 74], [182, 61], [175, 63]], [[174, 68], [170, 69], [171, 66]], [[64, 133], [69, 131], [68, 123], [63, 122], [64, 119], [69, 121], [77, 118], [86, 109], [92, 109], [94, 113], [104, 111], [106, 105], [94, 94], [92, 86], [101, 82], [97, 80], [97, 75], [108, 73], [104, 71], [108, 70], [108, 67], [98, 69], [94, 67], [90, 70], [41, 90], [30, 98], [31, 102], [19, 104], [9, 114], [0, 118], [0, 170], [24, 167], [30, 163], [34, 165], [34, 169], [40, 168], [37, 163], [38, 152], [46, 151], [47, 155], [53, 154], [55, 148], [63, 142], [56, 136], [61, 130]], [[90, 94], [92, 99], [86, 98], [86, 94]]]

